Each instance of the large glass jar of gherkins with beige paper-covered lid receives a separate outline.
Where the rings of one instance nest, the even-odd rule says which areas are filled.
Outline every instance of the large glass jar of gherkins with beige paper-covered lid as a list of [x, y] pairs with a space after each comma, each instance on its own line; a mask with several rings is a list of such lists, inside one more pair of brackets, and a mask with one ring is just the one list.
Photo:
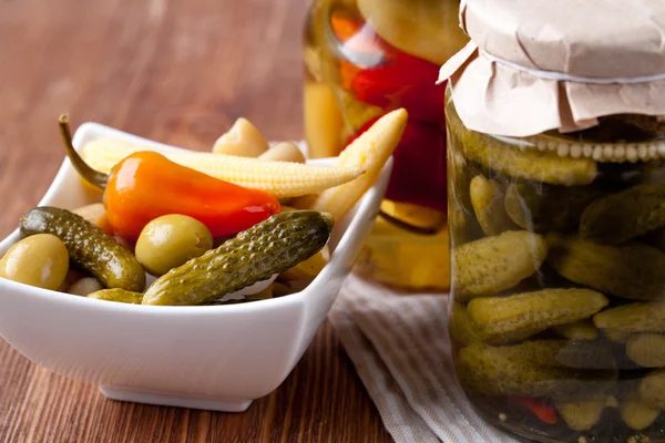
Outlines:
[[530, 441], [664, 441], [665, 6], [460, 17], [472, 41], [441, 70], [459, 382]]

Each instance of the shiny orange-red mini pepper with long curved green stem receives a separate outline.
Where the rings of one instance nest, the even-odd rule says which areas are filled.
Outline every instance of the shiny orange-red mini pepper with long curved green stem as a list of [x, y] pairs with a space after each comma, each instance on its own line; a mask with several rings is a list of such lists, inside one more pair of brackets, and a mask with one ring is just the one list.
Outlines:
[[279, 202], [266, 192], [211, 177], [151, 151], [127, 156], [110, 174], [100, 173], [74, 150], [64, 115], [60, 128], [74, 168], [85, 181], [104, 189], [109, 224], [127, 240], [135, 241], [145, 225], [163, 215], [187, 215], [203, 223], [214, 237], [221, 237], [279, 213]]

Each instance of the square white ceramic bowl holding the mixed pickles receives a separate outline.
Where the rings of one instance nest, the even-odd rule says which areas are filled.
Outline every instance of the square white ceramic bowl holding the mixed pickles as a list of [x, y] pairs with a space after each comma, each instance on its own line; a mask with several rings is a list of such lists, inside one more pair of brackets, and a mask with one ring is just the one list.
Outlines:
[[[94, 123], [79, 128], [74, 146], [108, 136], [174, 150]], [[0, 278], [0, 336], [33, 362], [95, 383], [110, 399], [244, 411], [275, 390], [309, 346], [351, 270], [389, 175], [390, 164], [338, 223], [329, 264], [298, 293], [229, 306], [152, 307]], [[65, 161], [40, 206], [75, 208], [100, 198]], [[18, 239], [18, 231], [4, 239], [0, 256]]]

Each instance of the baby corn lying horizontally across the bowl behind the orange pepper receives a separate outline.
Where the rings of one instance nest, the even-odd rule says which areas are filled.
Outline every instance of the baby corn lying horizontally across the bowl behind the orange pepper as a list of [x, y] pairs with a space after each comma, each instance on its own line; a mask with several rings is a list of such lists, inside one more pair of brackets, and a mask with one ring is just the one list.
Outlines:
[[109, 173], [120, 161], [137, 151], [157, 151], [180, 165], [236, 185], [268, 192], [277, 198], [318, 194], [364, 174], [362, 167], [356, 166], [328, 167], [224, 154], [167, 152], [115, 138], [91, 142], [81, 155], [94, 169]]

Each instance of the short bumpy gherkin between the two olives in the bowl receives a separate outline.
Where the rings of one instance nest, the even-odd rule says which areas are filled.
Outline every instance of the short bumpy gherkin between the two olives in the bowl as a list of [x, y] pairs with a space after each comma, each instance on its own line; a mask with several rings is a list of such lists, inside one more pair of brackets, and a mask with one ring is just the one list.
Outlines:
[[142, 291], [145, 271], [134, 255], [114, 238], [65, 209], [40, 207], [21, 218], [21, 236], [52, 234], [60, 238], [72, 264], [106, 288]]

